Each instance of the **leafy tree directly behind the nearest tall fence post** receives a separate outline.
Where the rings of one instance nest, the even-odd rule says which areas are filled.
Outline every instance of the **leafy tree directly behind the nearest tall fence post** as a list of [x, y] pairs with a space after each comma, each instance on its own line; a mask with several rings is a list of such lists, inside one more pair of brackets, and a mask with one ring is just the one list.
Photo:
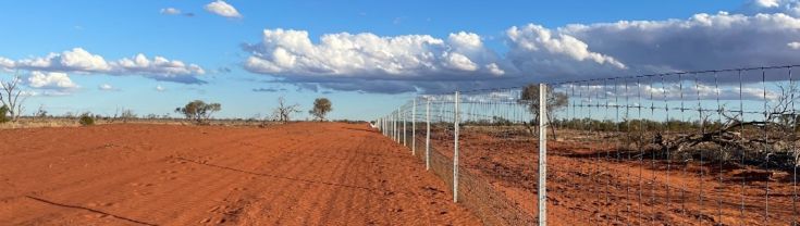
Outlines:
[[[528, 111], [533, 114], [533, 120], [531, 124], [539, 124], [540, 115], [539, 115], [539, 84], [530, 84], [522, 88], [522, 93], [519, 97], [519, 100], [517, 101], [520, 104], [527, 104]], [[566, 108], [567, 104], [569, 104], [569, 97], [564, 92], [553, 92], [547, 91], [547, 102], [546, 102], [547, 112], [545, 113], [545, 117], [547, 122], [551, 122], [551, 117], [553, 115], [553, 112], [558, 111], [563, 108]], [[528, 126], [531, 127], [530, 125]], [[555, 128], [551, 126], [553, 137], [555, 138]], [[531, 131], [532, 133], [532, 131]]]

